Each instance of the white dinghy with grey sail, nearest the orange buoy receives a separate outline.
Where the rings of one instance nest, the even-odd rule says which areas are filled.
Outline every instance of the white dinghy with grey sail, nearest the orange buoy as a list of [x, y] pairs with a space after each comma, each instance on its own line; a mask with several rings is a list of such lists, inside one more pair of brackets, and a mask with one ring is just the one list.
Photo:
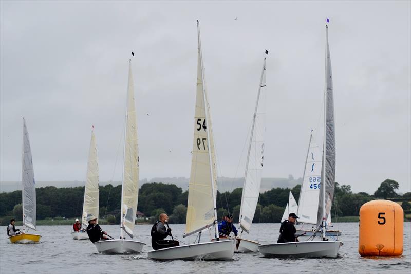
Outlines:
[[[335, 121], [334, 99], [332, 89], [332, 74], [330, 50], [328, 46], [328, 25], [326, 26], [326, 65], [325, 65], [325, 100], [324, 100], [324, 144], [322, 178], [325, 178], [325, 187], [320, 188], [319, 208], [317, 211], [317, 229], [322, 229], [321, 241], [289, 242], [279, 244], [260, 245], [258, 250], [265, 257], [327, 257], [337, 258], [338, 251], [343, 245], [341, 241], [326, 238], [327, 217], [330, 214], [335, 183]], [[301, 203], [300, 203], [301, 206]]]

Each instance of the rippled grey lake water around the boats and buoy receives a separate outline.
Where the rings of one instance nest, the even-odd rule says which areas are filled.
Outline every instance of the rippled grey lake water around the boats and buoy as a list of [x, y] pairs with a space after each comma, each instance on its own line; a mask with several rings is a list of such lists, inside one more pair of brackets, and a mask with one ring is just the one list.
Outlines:
[[[20, 228], [20, 227], [19, 227]], [[103, 225], [103, 230], [119, 237], [118, 225]], [[185, 225], [172, 225], [173, 235], [183, 242]], [[151, 225], [137, 225], [135, 239], [146, 243], [137, 255], [103, 255], [88, 240], [74, 241], [72, 226], [39, 226], [38, 244], [11, 244], [6, 227], [0, 237], [0, 273], [411, 273], [411, 223], [404, 223], [404, 252], [401, 257], [363, 258], [358, 254], [358, 223], [334, 223], [342, 230], [344, 245], [337, 259], [269, 259], [258, 253], [234, 254], [232, 261], [171, 261], [147, 259], [152, 250]], [[276, 242], [279, 224], [253, 224], [247, 239], [261, 244]], [[206, 235], [207, 234], [207, 235]], [[202, 240], [209, 239], [203, 231]]]

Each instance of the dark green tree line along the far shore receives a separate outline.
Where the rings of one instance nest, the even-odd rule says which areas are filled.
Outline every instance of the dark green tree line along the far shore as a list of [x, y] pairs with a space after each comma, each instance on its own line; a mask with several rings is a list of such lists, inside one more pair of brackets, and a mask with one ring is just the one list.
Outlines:
[[[335, 183], [334, 203], [331, 216], [358, 216], [360, 207], [369, 200], [376, 198], [402, 200], [405, 213], [411, 213], [411, 193], [398, 195], [395, 190], [399, 188], [398, 182], [386, 179], [373, 195], [365, 192], [352, 193], [349, 185]], [[291, 191], [296, 201], [300, 196], [301, 185], [294, 188], [273, 188], [260, 194], [257, 209], [254, 215], [254, 223], [275, 223], [281, 221], [285, 207], [288, 203]], [[217, 215], [218, 218], [231, 213], [234, 221], [238, 222], [242, 188], [236, 188], [232, 192], [220, 193], [217, 191]], [[36, 189], [37, 218], [76, 218], [81, 217], [83, 207], [84, 187], [56, 188], [42, 187]], [[107, 217], [111, 222], [118, 223], [121, 207], [121, 185], [100, 186], [100, 218]], [[167, 213], [171, 223], [184, 223], [186, 216], [186, 205], [188, 191], [173, 184], [152, 182], [143, 184], [139, 190], [137, 210], [145, 216], [151, 216], [155, 221], [160, 213]], [[0, 193], [0, 218], [2, 224], [14, 217], [22, 219], [22, 192], [13, 191]], [[4, 221], [3, 221], [4, 220]]]

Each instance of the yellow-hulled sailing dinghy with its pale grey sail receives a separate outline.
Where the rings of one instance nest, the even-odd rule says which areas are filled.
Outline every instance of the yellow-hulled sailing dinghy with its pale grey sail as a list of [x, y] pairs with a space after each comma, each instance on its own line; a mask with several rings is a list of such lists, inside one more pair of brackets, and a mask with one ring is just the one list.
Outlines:
[[28, 244], [38, 243], [41, 235], [27, 233], [30, 228], [37, 230], [36, 222], [36, 197], [35, 180], [33, 170], [33, 160], [31, 158], [31, 148], [29, 133], [27, 131], [26, 120], [23, 118], [23, 169], [22, 169], [22, 207], [23, 207], [23, 231], [20, 234], [9, 236], [11, 243]]

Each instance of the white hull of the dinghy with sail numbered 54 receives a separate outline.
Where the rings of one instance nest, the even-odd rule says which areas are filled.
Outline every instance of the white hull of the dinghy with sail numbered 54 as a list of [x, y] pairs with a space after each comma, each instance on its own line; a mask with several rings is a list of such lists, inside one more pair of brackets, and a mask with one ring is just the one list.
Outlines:
[[147, 257], [153, 260], [221, 260], [233, 259], [236, 240], [206, 242], [182, 246], [174, 246], [147, 252]]

